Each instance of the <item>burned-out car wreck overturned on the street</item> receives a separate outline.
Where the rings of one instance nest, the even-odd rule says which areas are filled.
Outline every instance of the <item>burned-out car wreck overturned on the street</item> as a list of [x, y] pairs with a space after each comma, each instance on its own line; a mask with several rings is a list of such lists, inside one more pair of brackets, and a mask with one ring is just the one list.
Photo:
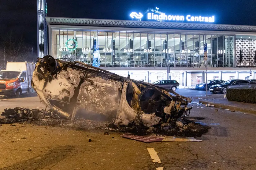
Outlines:
[[32, 87], [43, 104], [71, 120], [100, 114], [115, 126], [150, 127], [182, 119], [191, 109], [191, 99], [172, 90], [50, 55], [38, 58]]

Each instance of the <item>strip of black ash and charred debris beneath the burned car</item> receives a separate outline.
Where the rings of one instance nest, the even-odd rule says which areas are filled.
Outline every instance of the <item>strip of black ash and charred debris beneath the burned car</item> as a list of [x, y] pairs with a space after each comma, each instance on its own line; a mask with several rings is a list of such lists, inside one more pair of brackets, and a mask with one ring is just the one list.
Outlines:
[[[150, 135], [152, 133], [168, 135], [168, 136], [187, 136], [187, 137], [199, 137], [202, 134], [207, 133], [209, 126], [203, 126], [193, 121], [203, 119], [199, 117], [184, 117], [178, 119], [172, 123], [163, 123], [150, 128], [145, 126], [121, 126], [116, 127], [109, 121], [89, 120], [84, 118], [78, 118], [76, 121], [67, 120], [59, 117], [58, 115], [43, 115], [39, 119], [0, 119], [0, 124], [33, 124], [37, 126], [56, 126], [74, 130], [85, 130], [85, 131], [110, 131], [116, 133], [133, 133], [136, 135]], [[102, 119], [100, 119], [102, 120]], [[192, 121], [193, 120], [193, 121]]]

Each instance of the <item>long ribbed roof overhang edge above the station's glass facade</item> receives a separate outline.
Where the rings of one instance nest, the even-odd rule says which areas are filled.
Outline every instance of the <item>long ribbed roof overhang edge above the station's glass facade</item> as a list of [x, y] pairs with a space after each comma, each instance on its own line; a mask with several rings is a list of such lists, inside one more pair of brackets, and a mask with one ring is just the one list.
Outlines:
[[48, 25], [76, 25], [76, 26], [101, 26], [101, 27], [162, 28], [162, 29], [183, 29], [183, 30], [256, 32], [256, 26], [224, 25], [224, 24], [209, 24], [209, 23], [178, 23], [178, 22], [61, 18], [61, 17], [46, 17], [46, 22]]

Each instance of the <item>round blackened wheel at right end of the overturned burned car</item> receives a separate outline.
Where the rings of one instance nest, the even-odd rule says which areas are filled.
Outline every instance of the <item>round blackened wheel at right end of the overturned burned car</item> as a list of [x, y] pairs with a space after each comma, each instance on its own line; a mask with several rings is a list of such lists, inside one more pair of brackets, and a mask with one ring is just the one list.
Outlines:
[[145, 88], [139, 95], [139, 105], [146, 114], [155, 113], [161, 108], [161, 93], [155, 88]]

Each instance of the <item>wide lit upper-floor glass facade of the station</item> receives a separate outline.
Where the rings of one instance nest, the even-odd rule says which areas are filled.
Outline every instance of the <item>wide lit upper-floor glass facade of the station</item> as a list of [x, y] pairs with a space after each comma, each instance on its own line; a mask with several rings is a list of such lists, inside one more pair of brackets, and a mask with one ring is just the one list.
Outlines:
[[98, 46], [99, 67], [209, 68], [234, 66], [233, 35], [149, 33], [108, 30], [52, 30], [54, 58], [92, 65]]

